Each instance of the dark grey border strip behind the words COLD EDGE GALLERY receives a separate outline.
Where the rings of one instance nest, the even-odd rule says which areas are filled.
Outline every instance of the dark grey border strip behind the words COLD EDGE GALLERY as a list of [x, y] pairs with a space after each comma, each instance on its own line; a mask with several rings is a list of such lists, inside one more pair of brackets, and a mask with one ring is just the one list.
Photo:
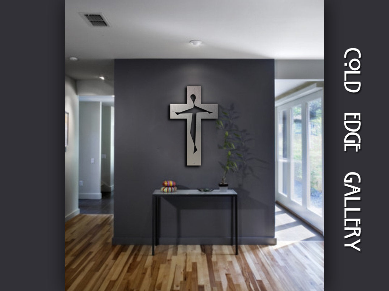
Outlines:
[[[385, 286], [388, 251], [385, 245], [388, 212], [387, 181], [387, 12], [376, 2], [325, 1], [324, 4], [324, 286], [326, 290], [368, 290]], [[385, 40], [386, 41], [386, 40]], [[361, 51], [361, 90], [352, 94], [343, 87], [345, 50]], [[350, 57], [352, 54], [350, 54]], [[356, 54], [354, 54], [356, 56]], [[351, 58], [348, 57], [349, 61]], [[359, 79], [359, 80], [356, 80]], [[361, 151], [344, 152], [344, 113], [361, 113]], [[361, 208], [349, 218], [361, 218], [361, 242], [345, 248], [343, 179], [351, 171], [361, 175]], [[355, 237], [354, 237], [355, 238]], [[384, 282], [385, 281], [385, 282]]]

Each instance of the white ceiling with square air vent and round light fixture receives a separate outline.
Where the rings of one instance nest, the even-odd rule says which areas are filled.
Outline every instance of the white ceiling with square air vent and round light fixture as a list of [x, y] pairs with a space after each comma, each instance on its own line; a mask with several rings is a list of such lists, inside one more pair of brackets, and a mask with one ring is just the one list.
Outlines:
[[324, 59], [324, 0], [65, 0], [65, 73], [113, 79], [116, 58]]

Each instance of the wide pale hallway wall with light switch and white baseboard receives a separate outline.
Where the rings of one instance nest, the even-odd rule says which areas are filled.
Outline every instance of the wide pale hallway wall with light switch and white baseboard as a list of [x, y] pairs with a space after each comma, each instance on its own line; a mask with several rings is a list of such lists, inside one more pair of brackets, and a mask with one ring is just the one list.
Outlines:
[[[80, 102], [80, 199], [101, 199], [101, 102]], [[91, 159], [94, 159], [92, 162]]]

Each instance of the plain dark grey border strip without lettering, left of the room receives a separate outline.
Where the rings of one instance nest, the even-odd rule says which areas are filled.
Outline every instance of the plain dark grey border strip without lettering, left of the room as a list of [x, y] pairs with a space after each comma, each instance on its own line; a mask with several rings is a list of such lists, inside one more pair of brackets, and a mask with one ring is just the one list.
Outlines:
[[2, 11], [1, 289], [63, 290], [64, 2]]

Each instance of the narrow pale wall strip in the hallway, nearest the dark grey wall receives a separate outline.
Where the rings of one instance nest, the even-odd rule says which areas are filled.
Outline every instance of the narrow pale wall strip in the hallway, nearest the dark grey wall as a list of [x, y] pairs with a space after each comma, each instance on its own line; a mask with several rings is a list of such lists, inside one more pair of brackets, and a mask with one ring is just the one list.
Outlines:
[[114, 107], [102, 106], [101, 182], [102, 191], [114, 190]]

